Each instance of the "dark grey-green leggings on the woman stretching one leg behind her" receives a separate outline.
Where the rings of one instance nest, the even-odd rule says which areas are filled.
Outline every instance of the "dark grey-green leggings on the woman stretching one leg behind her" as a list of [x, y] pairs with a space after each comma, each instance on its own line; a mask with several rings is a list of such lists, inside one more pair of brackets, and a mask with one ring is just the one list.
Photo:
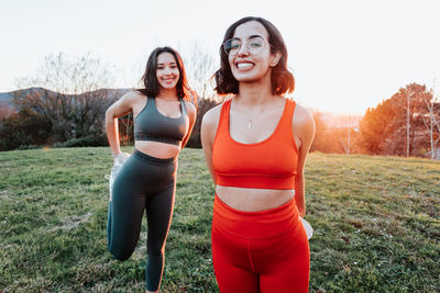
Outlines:
[[147, 218], [146, 289], [157, 291], [164, 269], [166, 236], [173, 216], [177, 157], [158, 159], [134, 150], [112, 187], [107, 222], [109, 251], [130, 258], [138, 244], [144, 210]]

